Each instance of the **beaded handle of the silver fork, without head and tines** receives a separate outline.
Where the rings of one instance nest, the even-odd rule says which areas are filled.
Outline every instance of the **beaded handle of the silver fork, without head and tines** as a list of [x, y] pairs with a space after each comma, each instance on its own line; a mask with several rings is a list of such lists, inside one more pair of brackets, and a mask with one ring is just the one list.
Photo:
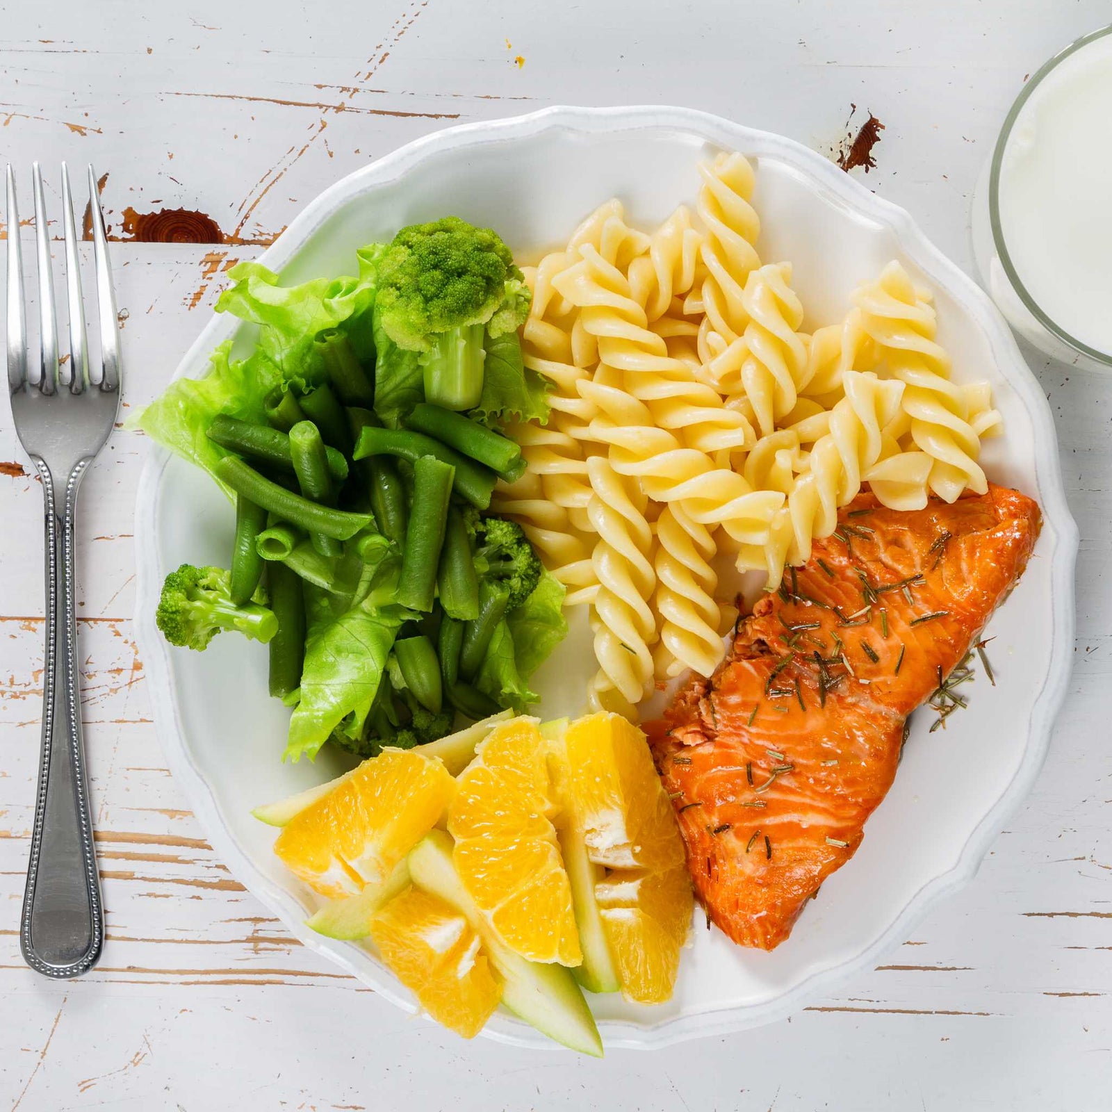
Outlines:
[[66, 476], [61, 492], [47, 465], [39, 458], [34, 464], [46, 502], [47, 620], [42, 754], [19, 941], [31, 969], [71, 977], [96, 964], [105, 937], [81, 739], [75, 614], [73, 523], [88, 460]]

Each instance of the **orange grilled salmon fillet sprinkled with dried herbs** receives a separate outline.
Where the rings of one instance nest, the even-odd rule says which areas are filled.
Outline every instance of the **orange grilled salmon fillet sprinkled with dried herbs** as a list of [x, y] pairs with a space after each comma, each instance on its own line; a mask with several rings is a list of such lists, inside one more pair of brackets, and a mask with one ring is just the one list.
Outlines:
[[907, 715], [962, 663], [1039, 528], [1035, 503], [997, 486], [911, 513], [860, 495], [714, 676], [648, 724], [695, 891], [739, 945], [780, 945], [853, 856]]

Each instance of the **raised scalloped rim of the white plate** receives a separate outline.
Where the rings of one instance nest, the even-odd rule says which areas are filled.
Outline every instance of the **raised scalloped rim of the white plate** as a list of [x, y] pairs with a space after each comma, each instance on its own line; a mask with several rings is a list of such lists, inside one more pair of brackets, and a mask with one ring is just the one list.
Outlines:
[[[607, 1048], [655, 1049], [687, 1039], [722, 1035], [775, 1022], [804, 1007], [823, 991], [853, 974], [872, 967], [877, 959], [903, 940], [911, 926], [921, 921], [944, 896], [967, 884], [989, 851], [990, 844], [1007, 817], [1030, 793], [1050, 747], [1055, 715], [1064, 699], [1070, 679], [1070, 647], [1074, 632], [1073, 570], [1076, 559], [1078, 527], [1070, 514], [1062, 486], [1053, 418], [1037, 380], [1023, 360], [1003, 318], [987, 295], [955, 264], [947, 259], [919, 228], [903, 208], [871, 192], [840, 170], [822, 155], [795, 140], [734, 123], [695, 109], [657, 106], [585, 108], [554, 106], [523, 116], [464, 123], [416, 139], [369, 166], [340, 179], [312, 200], [259, 257], [259, 261], [279, 270], [344, 201], [367, 187], [397, 180], [416, 162], [434, 151], [475, 143], [510, 141], [535, 136], [548, 129], [564, 128], [587, 132], [626, 132], [637, 129], [672, 127], [698, 135], [724, 148], [741, 149], [746, 155], [767, 155], [793, 167], [842, 203], [871, 217], [895, 234], [901, 249], [932, 281], [947, 289], [974, 318], [986, 335], [1002, 373], [1015, 388], [1031, 416], [1035, 434], [1035, 455], [1040, 471], [1039, 494], [1044, 517], [1044, 535], [1051, 535], [1049, 557], [1052, 563], [1051, 594], [1054, 602], [1051, 667], [1035, 698], [1022, 761], [1011, 782], [982, 817], [952, 867], [925, 883], [905, 903], [891, 925], [853, 956], [817, 971], [788, 991], [755, 1005], [716, 1007], [687, 1012], [658, 1023], [618, 1020], [599, 1022]], [[230, 338], [239, 327], [235, 318], [214, 314], [197, 340], [182, 357], [173, 378], [203, 365], [217, 344]], [[212, 792], [197, 768], [178, 715], [170, 675], [168, 648], [153, 622], [159, 583], [158, 568], [142, 538], [152, 536], [161, 478], [169, 453], [151, 446], [140, 477], [136, 499], [136, 631], [143, 659], [147, 661], [159, 742], [169, 758], [171, 771], [185, 787], [193, 812], [209, 835], [214, 848], [228, 863], [234, 875], [262, 901], [306, 946], [327, 956], [351, 975], [406, 1012], [415, 1004], [373, 956], [350, 943], [322, 939], [304, 924], [304, 911], [289, 893], [264, 876], [225, 826]], [[534, 1049], [559, 1049], [515, 1017], [505, 1017], [496, 1027], [483, 1032], [495, 1041]]]

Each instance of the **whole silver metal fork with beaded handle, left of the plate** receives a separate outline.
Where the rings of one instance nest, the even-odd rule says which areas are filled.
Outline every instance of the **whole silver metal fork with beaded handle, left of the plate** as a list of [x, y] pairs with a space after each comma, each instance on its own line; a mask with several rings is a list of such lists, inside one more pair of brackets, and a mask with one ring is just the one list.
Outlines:
[[50, 232], [39, 163], [33, 168], [40, 358], [29, 366], [16, 179], [8, 167], [8, 386], [20, 443], [42, 479], [46, 503], [46, 671], [42, 754], [20, 923], [31, 969], [77, 976], [100, 956], [105, 915], [81, 741], [75, 604], [73, 523], [81, 476], [103, 447], [120, 405], [120, 348], [97, 178], [89, 167], [100, 367], [90, 371], [78, 238], [62, 163], [62, 227], [69, 302], [69, 359], [59, 361]]

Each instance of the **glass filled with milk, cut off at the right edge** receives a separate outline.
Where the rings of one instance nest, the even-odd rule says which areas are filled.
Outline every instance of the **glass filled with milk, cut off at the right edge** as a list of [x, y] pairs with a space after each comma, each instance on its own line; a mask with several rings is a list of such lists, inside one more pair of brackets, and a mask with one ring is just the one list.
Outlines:
[[1112, 369], [1112, 27], [1024, 85], [973, 197], [973, 248], [1017, 332]]

